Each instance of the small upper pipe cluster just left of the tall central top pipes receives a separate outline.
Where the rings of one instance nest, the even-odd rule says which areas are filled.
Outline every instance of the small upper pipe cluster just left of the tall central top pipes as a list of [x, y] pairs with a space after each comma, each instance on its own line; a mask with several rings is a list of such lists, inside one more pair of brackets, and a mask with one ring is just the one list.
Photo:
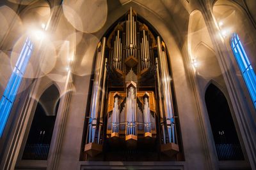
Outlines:
[[113, 52], [113, 66], [116, 69], [120, 69], [122, 71], [122, 43], [120, 38], [120, 31], [117, 30], [117, 35], [115, 36], [114, 41], [114, 52]]

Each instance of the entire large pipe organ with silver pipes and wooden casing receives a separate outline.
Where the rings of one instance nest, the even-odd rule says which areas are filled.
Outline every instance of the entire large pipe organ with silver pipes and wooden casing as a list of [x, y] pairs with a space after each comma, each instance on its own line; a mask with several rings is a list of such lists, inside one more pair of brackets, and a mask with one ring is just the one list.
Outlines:
[[113, 146], [179, 152], [166, 46], [137, 17], [130, 8], [97, 46], [84, 148], [90, 157]]

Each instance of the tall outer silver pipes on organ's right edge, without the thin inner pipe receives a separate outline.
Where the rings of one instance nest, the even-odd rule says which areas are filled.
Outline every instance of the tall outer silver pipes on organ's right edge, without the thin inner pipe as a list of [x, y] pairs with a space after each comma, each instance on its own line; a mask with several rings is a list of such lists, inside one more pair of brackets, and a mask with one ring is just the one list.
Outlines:
[[161, 87], [163, 92], [164, 117], [166, 118], [168, 143], [177, 143], [175, 138], [175, 122], [173, 117], [170, 74], [168, 73], [165, 49], [162, 50], [162, 42], [159, 36], [157, 36], [157, 53], [159, 56], [159, 65], [161, 66], [160, 76], [158, 77], [158, 79], [159, 81], [161, 81]]

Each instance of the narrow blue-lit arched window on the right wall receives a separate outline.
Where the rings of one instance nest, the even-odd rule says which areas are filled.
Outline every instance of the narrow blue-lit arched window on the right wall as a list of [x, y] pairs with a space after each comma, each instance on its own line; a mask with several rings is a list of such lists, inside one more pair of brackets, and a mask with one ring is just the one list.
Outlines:
[[236, 33], [232, 34], [230, 38], [230, 43], [246, 86], [250, 92], [250, 96], [252, 97], [254, 107], [256, 108], [256, 76], [253, 71], [252, 65]]

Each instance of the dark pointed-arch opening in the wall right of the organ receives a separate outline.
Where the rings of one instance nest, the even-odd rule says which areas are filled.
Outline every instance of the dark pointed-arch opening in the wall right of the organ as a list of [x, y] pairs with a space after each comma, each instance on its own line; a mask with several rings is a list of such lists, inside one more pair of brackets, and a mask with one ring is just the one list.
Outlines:
[[218, 87], [210, 84], [205, 103], [219, 160], [243, 160], [243, 152], [228, 102]]

